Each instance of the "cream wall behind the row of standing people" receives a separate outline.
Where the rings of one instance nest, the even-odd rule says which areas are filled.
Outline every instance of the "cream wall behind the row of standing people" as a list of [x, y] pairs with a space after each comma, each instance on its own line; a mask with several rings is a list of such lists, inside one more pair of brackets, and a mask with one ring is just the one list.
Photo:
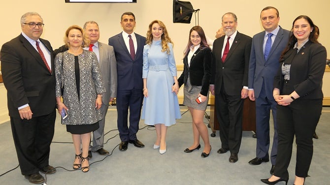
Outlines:
[[[188, 0], [187, 0], [188, 1]], [[263, 31], [260, 23], [260, 12], [265, 6], [274, 6], [280, 12], [280, 25], [287, 30], [292, 27], [293, 20], [299, 15], [308, 15], [320, 28], [319, 41], [330, 48], [329, 32], [329, 0], [278, 0], [267, 3], [262, 0], [189, 0], [194, 9], [199, 11], [199, 25], [206, 34], [214, 38], [221, 26], [221, 17], [226, 12], [234, 12], [238, 18], [237, 30], [253, 36]], [[188, 41], [191, 27], [195, 26], [195, 17], [191, 24], [172, 22], [172, 0], [137, 0], [137, 3], [65, 3], [65, 0], [13, 0], [3, 2], [0, 6], [2, 22], [0, 45], [16, 37], [21, 32], [20, 18], [28, 11], [38, 12], [44, 20], [42, 38], [49, 40], [53, 48], [63, 45], [66, 28], [76, 24], [83, 26], [86, 21], [99, 23], [100, 41], [108, 43], [108, 38], [120, 31], [120, 16], [123, 12], [132, 11], [136, 16], [135, 32], [145, 35], [151, 21], [163, 21], [174, 42], [174, 54], [178, 66], [182, 65], [183, 49]], [[329, 57], [328, 57], [329, 58]], [[181, 72], [178, 72], [180, 75]], [[0, 91], [5, 91], [0, 89]], [[324, 82], [325, 96], [330, 96], [330, 83]], [[6, 98], [0, 92], [1, 99]], [[179, 93], [179, 96], [182, 92]], [[6, 107], [0, 101], [0, 111]], [[0, 121], [1, 122], [1, 121]]]

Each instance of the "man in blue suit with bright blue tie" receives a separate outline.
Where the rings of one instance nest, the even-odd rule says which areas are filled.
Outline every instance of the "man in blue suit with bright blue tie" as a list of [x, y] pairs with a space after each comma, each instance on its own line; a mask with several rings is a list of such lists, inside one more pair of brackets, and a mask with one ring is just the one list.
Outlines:
[[[256, 101], [257, 156], [249, 161], [259, 165], [269, 161], [270, 110], [274, 121], [274, 138], [270, 153], [273, 173], [277, 154], [276, 101], [273, 98], [273, 81], [279, 67], [279, 57], [288, 43], [290, 31], [278, 26], [278, 10], [265, 7], [260, 14], [265, 31], [253, 36], [249, 63], [249, 98]], [[268, 43], [267, 44], [267, 40]], [[268, 45], [268, 46], [266, 46]]]

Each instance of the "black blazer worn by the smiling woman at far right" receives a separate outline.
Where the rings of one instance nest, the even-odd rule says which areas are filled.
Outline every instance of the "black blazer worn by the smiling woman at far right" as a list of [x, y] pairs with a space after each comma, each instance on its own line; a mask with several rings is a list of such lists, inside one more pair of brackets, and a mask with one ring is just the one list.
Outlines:
[[274, 88], [278, 88], [280, 94], [283, 94], [282, 64], [291, 62], [290, 84], [293, 85], [291, 92], [296, 91], [299, 98], [304, 99], [323, 98], [322, 79], [327, 61], [326, 48], [319, 43], [308, 41], [294, 58], [290, 58], [289, 53], [290, 51], [284, 56], [284, 61], [280, 63], [274, 78]]

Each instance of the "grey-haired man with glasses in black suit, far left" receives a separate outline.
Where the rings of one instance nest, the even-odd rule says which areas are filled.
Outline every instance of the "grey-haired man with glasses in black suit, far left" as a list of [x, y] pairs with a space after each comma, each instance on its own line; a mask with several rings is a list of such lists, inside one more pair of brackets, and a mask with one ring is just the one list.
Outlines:
[[11, 130], [21, 173], [30, 183], [45, 180], [56, 118], [53, 48], [40, 38], [43, 20], [36, 12], [21, 17], [22, 33], [2, 45], [1, 71], [7, 90]]

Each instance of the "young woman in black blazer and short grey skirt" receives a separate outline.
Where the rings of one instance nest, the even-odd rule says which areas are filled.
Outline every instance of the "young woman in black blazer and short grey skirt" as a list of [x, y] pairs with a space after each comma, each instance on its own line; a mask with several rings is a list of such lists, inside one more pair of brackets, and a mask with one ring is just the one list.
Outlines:
[[183, 104], [188, 106], [193, 118], [194, 143], [184, 152], [191, 153], [198, 150], [199, 137], [201, 137], [204, 142], [201, 157], [207, 157], [211, 152], [207, 127], [203, 122], [208, 102], [211, 58], [211, 49], [206, 42], [203, 29], [199, 26], [193, 27], [189, 32], [188, 44], [184, 51], [184, 69], [178, 81], [180, 87], [182, 84], [185, 85]]

